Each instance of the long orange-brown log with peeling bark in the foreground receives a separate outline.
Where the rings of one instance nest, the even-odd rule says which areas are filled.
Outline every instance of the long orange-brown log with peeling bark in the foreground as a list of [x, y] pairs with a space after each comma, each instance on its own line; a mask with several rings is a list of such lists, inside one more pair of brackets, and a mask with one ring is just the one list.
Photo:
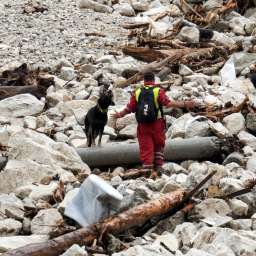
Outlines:
[[[85, 228], [62, 235], [43, 243], [29, 244], [9, 252], [2, 256], [58, 256], [73, 244], [79, 246], [92, 243], [102, 234], [118, 234], [124, 230], [141, 225], [155, 216], [169, 212], [187, 194], [186, 189], [164, 194], [148, 203], [137, 205], [126, 212], [110, 216], [106, 220], [88, 225]], [[102, 232], [104, 231], [104, 232]]]

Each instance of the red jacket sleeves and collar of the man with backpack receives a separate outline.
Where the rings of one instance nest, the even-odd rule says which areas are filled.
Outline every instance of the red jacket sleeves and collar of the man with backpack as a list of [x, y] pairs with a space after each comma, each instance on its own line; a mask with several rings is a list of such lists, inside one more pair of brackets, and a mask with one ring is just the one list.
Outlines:
[[[145, 85], [154, 85], [155, 84], [153, 82], [146, 82], [144, 84]], [[159, 96], [157, 98], [157, 101], [158, 101], [158, 104], [161, 105], [161, 106], [166, 106], [168, 105], [168, 103], [171, 101], [167, 95], [165, 94], [165, 91], [161, 88], [159, 90]], [[136, 98], [135, 98], [135, 93], [132, 93], [132, 97], [131, 97], [131, 101], [130, 103], [128, 103], [124, 109], [124, 111], [127, 113], [127, 114], [130, 114], [130, 113], [135, 113], [136, 112], [136, 108], [137, 108], [137, 101], [136, 101]]]

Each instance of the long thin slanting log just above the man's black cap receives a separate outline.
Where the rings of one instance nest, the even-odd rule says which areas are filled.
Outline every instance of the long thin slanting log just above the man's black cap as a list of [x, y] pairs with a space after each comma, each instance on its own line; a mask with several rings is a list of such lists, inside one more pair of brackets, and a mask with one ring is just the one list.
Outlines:
[[145, 72], [154, 71], [156, 68], [159, 68], [162, 66], [167, 66], [168, 62], [176, 61], [177, 59], [181, 58], [182, 56], [184, 56], [184, 53], [182, 53], [181, 51], [178, 51], [178, 52], [170, 55], [169, 57], [163, 59], [160, 62], [152, 62], [148, 66], [143, 68], [141, 71], [139, 71], [136, 75], [133, 75], [131, 78], [127, 79], [123, 84], [120, 84], [118, 86], [118, 88], [123, 88], [124, 86], [126, 86], [128, 84], [132, 84], [132, 82], [134, 82], [136, 79], [140, 81], [143, 78], [143, 75]]

